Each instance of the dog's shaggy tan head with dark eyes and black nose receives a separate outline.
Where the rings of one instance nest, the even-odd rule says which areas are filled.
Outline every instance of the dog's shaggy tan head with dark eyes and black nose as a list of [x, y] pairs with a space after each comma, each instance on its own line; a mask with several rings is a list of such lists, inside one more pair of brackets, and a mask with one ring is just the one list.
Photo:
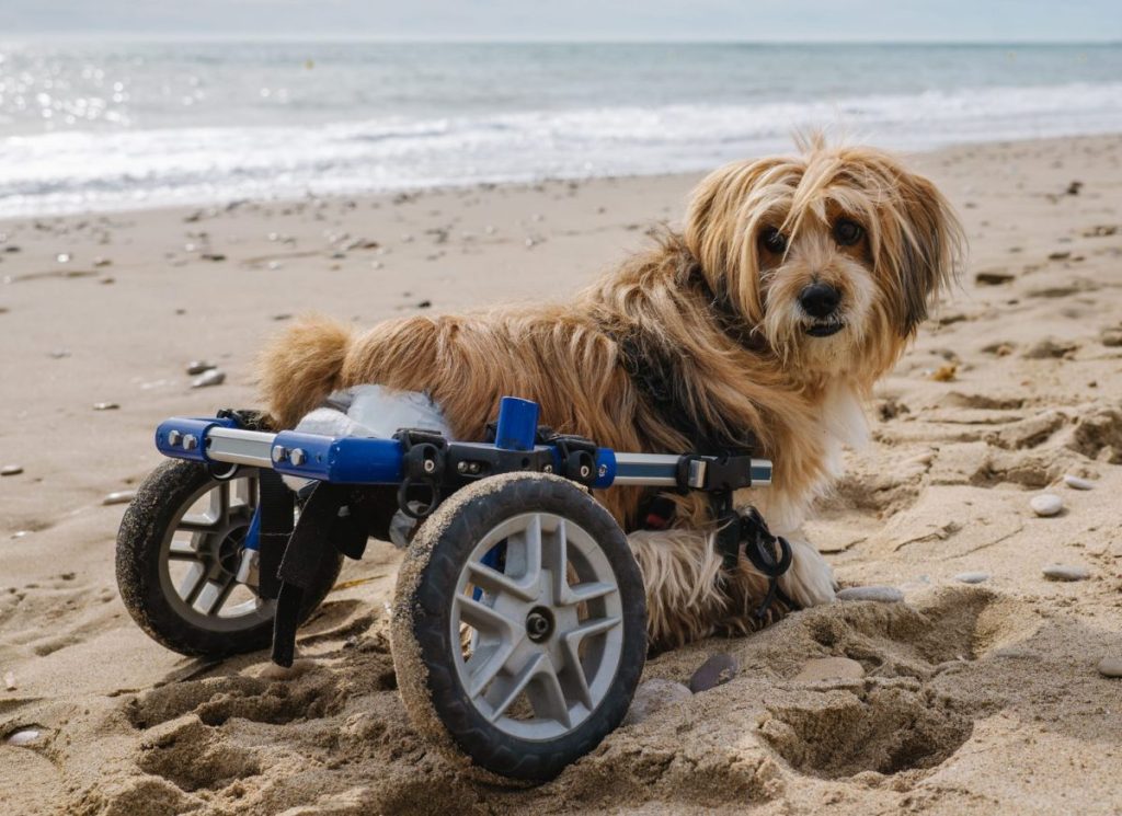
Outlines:
[[789, 365], [871, 381], [954, 279], [962, 228], [935, 185], [891, 156], [820, 137], [801, 147], [710, 174], [686, 242]]

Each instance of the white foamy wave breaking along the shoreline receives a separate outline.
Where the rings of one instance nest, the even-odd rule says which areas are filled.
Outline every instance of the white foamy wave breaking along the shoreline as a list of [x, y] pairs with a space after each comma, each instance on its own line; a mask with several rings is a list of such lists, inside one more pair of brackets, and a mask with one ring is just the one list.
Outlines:
[[697, 170], [824, 127], [896, 149], [1122, 131], [1122, 83], [0, 139], [0, 216]]

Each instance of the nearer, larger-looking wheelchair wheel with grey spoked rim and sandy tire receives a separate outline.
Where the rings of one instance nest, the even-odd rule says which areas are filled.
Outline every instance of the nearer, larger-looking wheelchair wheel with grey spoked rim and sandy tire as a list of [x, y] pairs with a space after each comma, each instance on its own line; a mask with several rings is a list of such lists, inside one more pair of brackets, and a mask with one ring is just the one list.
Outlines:
[[646, 656], [643, 579], [623, 530], [576, 484], [494, 476], [417, 532], [392, 634], [420, 731], [487, 771], [545, 781], [627, 712]]

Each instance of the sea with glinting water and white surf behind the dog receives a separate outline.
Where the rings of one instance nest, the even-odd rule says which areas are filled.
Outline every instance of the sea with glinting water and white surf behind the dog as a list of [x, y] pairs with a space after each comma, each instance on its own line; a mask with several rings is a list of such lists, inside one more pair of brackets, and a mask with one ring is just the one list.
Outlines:
[[1122, 45], [3, 41], [0, 217], [1122, 132]]

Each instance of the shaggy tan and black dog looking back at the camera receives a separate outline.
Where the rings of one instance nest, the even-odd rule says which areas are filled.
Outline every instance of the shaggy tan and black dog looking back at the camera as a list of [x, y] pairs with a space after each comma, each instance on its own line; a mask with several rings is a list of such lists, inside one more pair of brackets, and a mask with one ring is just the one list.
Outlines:
[[[889, 155], [819, 138], [800, 150], [710, 174], [681, 233], [563, 305], [362, 333], [294, 325], [263, 356], [274, 420], [292, 427], [332, 391], [380, 383], [429, 395], [459, 439], [484, 438], [499, 398], [515, 395], [554, 429], [617, 451], [752, 446], [774, 479], [736, 506], [756, 506], [790, 539], [789, 599], [831, 601], [831, 571], [798, 529], [839, 475], [843, 445], [865, 437], [862, 404], [954, 279], [963, 241], [944, 196]], [[703, 494], [666, 495], [675, 512], [661, 530], [642, 529], [643, 489], [597, 497], [629, 534], [652, 646], [749, 629], [767, 581], [743, 555], [723, 568]]]

